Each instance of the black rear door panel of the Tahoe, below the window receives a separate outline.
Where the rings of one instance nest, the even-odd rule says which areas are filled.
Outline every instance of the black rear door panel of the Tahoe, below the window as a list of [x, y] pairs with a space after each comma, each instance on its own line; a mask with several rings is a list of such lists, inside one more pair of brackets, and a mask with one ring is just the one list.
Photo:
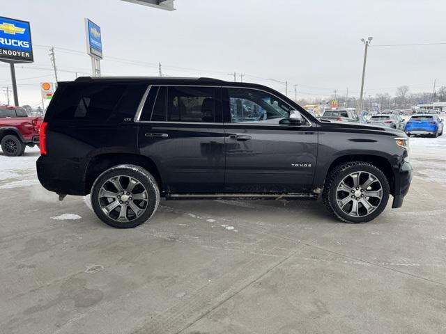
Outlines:
[[222, 191], [223, 125], [141, 122], [139, 148], [141, 154], [158, 166], [164, 190], [173, 193]]

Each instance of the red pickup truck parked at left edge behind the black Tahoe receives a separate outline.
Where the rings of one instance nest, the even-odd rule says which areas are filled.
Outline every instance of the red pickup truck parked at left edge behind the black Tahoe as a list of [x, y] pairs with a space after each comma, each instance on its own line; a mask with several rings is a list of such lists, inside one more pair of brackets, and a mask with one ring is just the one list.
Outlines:
[[29, 117], [20, 106], [0, 106], [1, 150], [8, 157], [18, 157], [25, 147], [39, 143], [41, 117]]

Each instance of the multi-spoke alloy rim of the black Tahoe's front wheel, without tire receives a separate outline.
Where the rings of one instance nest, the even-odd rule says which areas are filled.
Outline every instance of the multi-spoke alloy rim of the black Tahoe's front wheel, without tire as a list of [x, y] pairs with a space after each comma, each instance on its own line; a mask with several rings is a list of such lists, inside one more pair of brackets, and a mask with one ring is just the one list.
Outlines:
[[336, 189], [336, 202], [348, 216], [368, 216], [383, 200], [383, 185], [369, 172], [348, 174]]

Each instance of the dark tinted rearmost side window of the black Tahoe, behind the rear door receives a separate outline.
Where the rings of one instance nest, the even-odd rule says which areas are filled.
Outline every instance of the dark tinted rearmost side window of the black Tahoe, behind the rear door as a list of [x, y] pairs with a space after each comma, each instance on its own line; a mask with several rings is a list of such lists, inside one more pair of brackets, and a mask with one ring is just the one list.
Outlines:
[[52, 106], [54, 120], [121, 122], [133, 118], [144, 84], [75, 84], [66, 86]]

